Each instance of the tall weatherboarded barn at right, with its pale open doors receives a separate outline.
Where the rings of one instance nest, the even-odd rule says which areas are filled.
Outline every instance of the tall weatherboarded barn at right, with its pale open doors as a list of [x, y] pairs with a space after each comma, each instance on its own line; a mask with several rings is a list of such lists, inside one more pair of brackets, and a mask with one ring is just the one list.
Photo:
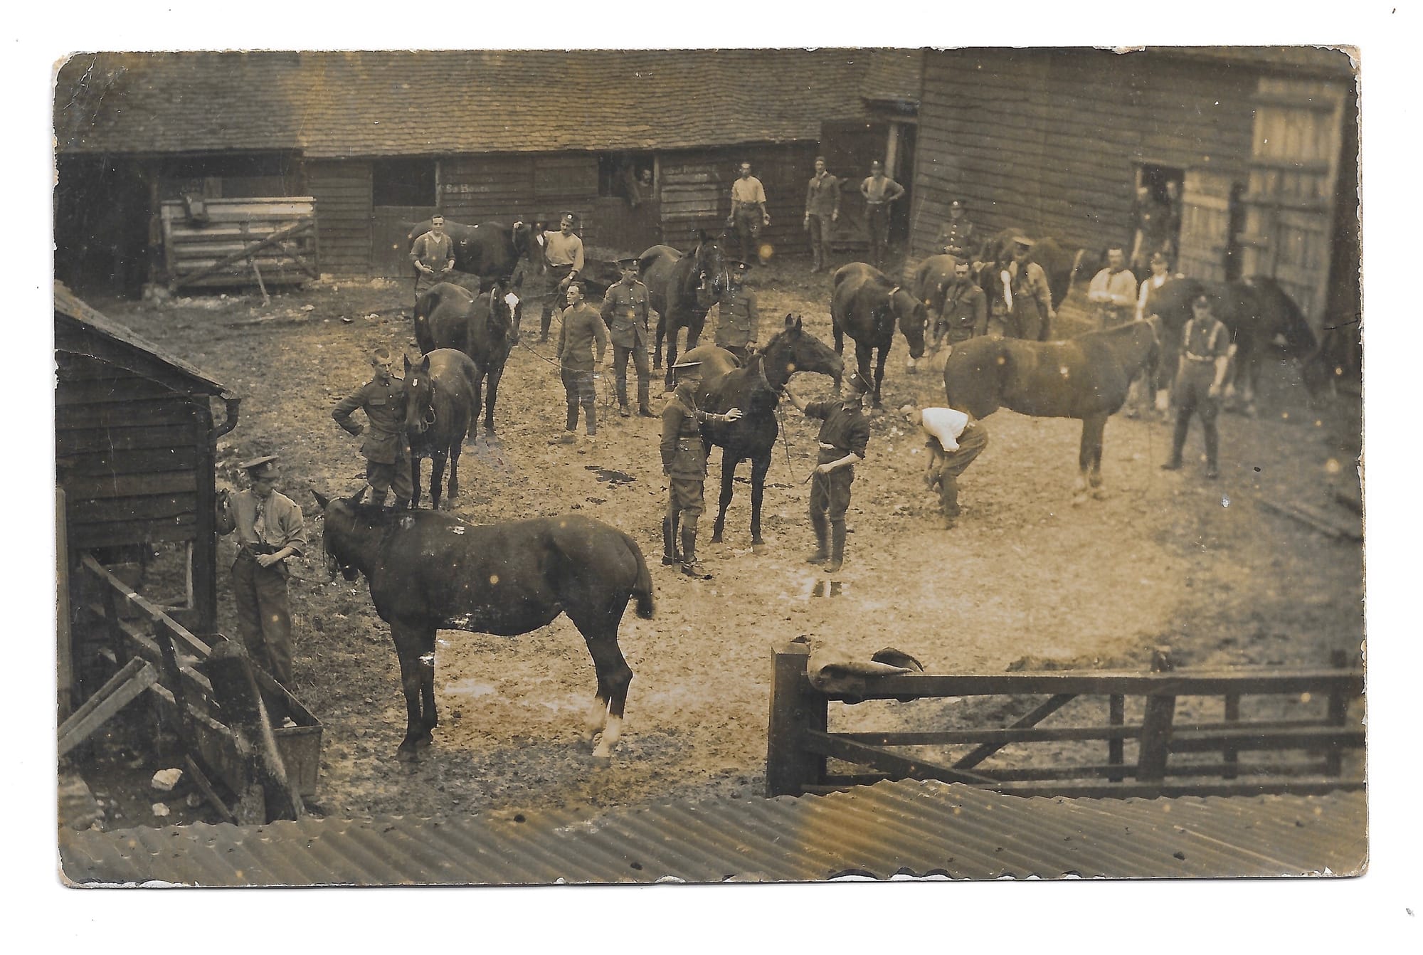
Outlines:
[[912, 252], [953, 198], [982, 233], [1101, 249], [1137, 186], [1174, 204], [1177, 268], [1279, 279], [1318, 329], [1359, 313], [1358, 73], [1315, 47], [928, 51]]

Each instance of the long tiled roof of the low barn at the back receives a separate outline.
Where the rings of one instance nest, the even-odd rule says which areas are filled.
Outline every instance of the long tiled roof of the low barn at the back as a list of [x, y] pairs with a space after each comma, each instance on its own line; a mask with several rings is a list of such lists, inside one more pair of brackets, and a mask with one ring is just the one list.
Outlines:
[[864, 118], [862, 50], [81, 54], [61, 152], [309, 157], [818, 139]]

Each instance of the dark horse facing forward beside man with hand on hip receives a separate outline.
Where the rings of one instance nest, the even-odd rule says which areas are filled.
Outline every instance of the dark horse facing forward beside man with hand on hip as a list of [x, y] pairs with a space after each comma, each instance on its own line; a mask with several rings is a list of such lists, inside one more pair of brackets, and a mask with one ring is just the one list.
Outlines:
[[410, 436], [410, 505], [420, 507], [420, 461], [430, 458], [430, 505], [440, 508], [445, 461], [450, 463], [448, 510], [460, 494], [460, 448], [478, 411], [475, 367], [457, 349], [435, 349], [420, 364], [406, 359], [406, 434]]

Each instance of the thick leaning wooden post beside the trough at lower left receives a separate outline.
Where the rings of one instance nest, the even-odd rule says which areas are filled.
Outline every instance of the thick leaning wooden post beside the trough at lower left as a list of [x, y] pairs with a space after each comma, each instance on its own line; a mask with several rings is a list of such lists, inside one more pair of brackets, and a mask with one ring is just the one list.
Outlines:
[[[256, 677], [246, 650], [233, 640], [225, 640], [212, 648], [205, 665], [212, 682], [212, 695], [222, 709], [222, 722], [228, 724], [238, 740], [238, 750], [248, 756], [249, 781], [262, 788], [266, 818], [300, 818], [305, 813], [302, 796], [286, 779], [282, 754], [272, 736], [266, 705], [258, 692]], [[246, 793], [240, 794], [243, 798]], [[239, 800], [239, 807], [242, 800]]]

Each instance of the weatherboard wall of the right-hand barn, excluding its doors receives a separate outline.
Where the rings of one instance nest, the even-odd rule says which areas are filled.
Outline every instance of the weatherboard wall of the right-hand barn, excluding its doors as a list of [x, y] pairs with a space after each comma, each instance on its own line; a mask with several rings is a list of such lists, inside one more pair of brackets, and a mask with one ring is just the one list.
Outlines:
[[1019, 226], [1103, 248], [1131, 236], [1136, 164], [1244, 181], [1255, 74], [1099, 50], [948, 50], [925, 63], [911, 248], [948, 204], [983, 233]]

